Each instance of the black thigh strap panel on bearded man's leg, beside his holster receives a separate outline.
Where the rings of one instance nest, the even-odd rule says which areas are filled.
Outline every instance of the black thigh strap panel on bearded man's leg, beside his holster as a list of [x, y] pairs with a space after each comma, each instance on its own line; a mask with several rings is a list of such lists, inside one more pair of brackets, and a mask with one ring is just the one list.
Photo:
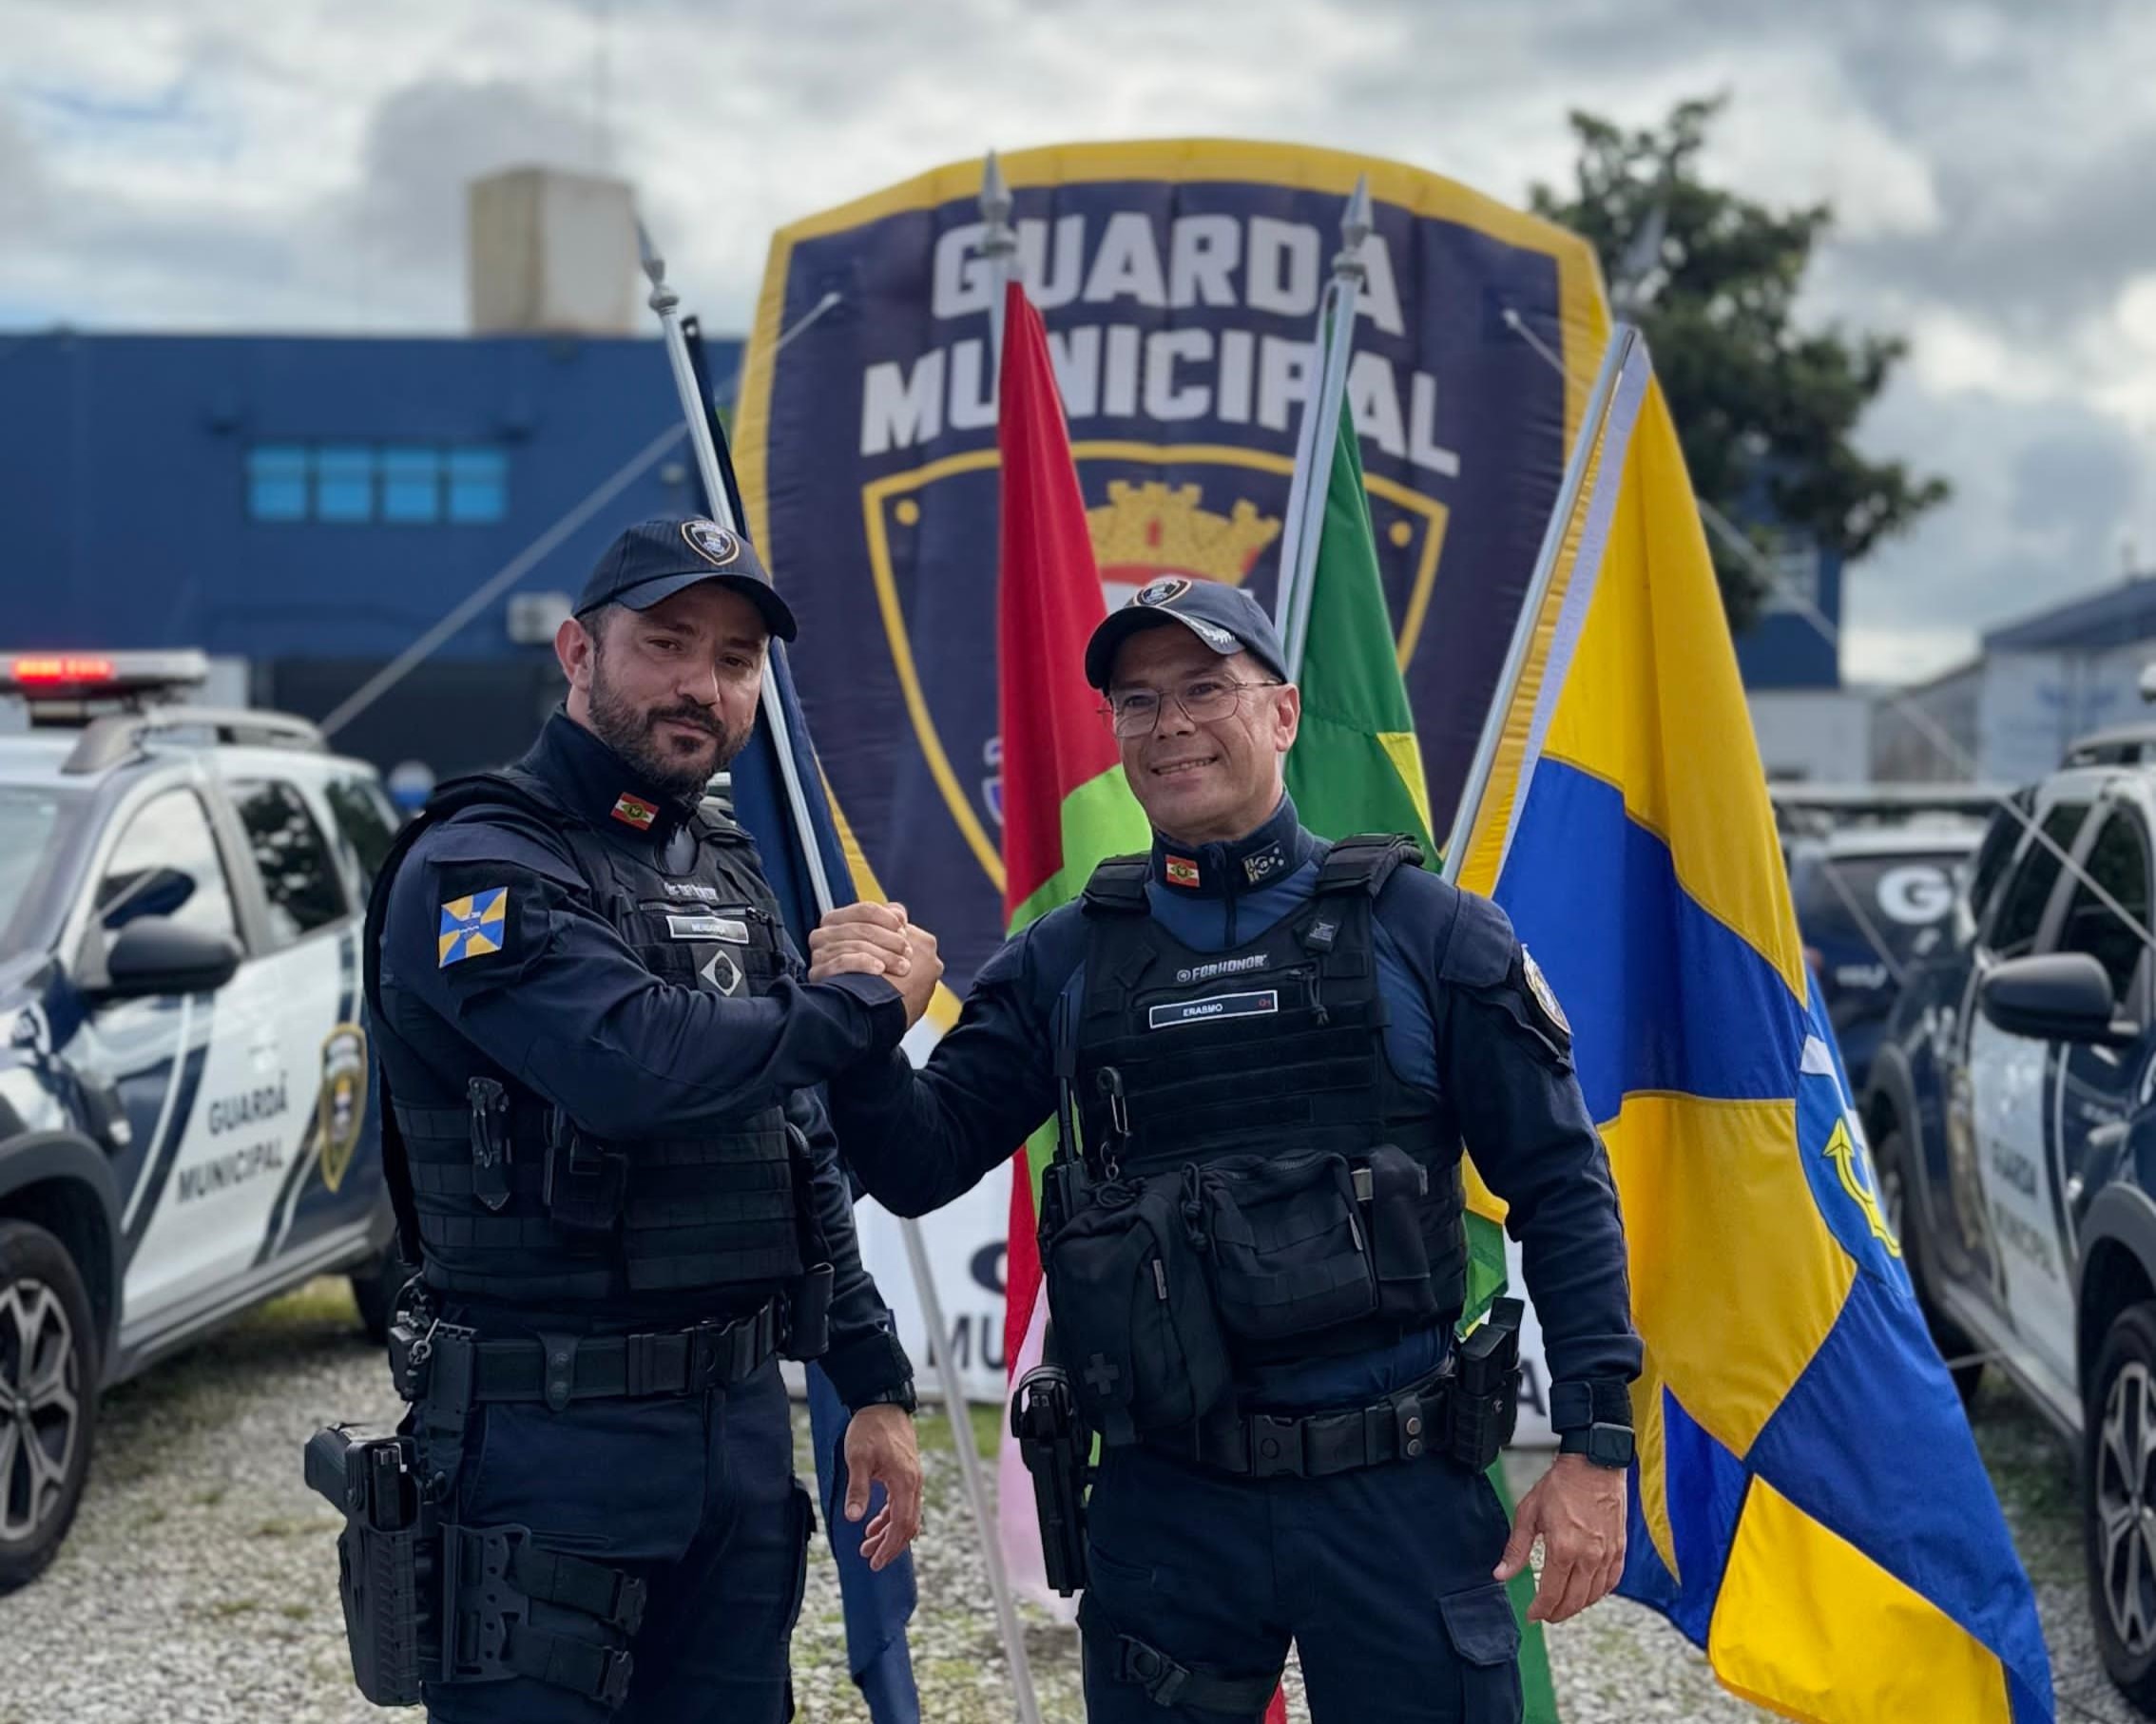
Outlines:
[[645, 1621], [645, 1582], [543, 1549], [524, 1526], [442, 1528], [442, 1679], [533, 1677], [619, 1707], [630, 1692], [630, 1653], [533, 1627], [533, 1603], [573, 1610], [625, 1638]]

